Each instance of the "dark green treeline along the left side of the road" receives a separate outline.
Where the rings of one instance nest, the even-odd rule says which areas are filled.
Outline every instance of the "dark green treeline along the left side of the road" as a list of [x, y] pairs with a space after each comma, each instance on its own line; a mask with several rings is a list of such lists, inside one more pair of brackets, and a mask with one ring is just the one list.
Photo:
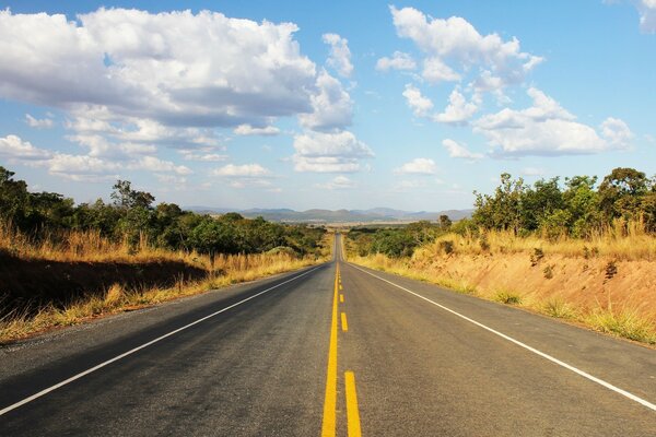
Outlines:
[[[75, 204], [54, 192], [30, 192], [24, 180], [0, 166], [0, 221], [34, 239], [61, 238], [67, 231], [95, 231], [134, 248], [149, 245], [201, 253], [259, 253], [292, 251], [318, 255], [323, 227], [284, 225], [237, 213], [220, 217], [183, 211], [175, 203], [154, 204], [155, 198], [132, 188], [127, 180], [113, 187], [112, 202]], [[286, 248], [286, 249], [284, 249]]]

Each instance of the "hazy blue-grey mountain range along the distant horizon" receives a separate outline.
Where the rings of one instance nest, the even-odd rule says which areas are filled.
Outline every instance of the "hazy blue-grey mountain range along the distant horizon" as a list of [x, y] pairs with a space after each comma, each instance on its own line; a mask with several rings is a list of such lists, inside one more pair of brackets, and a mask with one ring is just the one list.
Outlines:
[[[235, 210], [224, 208], [208, 206], [187, 206], [188, 210], [208, 213], [224, 214]], [[294, 211], [286, 208], [281, 209], [260, 209], [251, 208], [249, 210], [236, 211], [245, 217], [262, 216], [271, 222], [293, 222], [293, 223], [394, 223], [394, 222], [418, 222], [420, 220], [436, 221], [440, 215], [448, 215], [452, 221], [461, 220], [471, 216], [473, 210], [448, 210], [438, 212], [426, 211], [402, 211], [391, 208], [373, 208], [370, 210], [307, 210]]]

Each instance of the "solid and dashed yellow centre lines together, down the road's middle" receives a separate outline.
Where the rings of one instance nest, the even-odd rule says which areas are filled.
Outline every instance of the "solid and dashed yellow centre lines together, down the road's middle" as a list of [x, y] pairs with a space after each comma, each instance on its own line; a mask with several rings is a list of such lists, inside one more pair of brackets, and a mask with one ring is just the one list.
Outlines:
[[[337, 314], [338, 300], [343, 303], [341, 290], [339, 263], [335, 270], [335, 295], [332, 296], [332, 319], [330, 321], [330, 344], [328, 346], [328, 370], [326, 373], [326, 398], [324, 400], [324, 422], [321, 424], [321, 437], [335, 437], [337, 429]], [[341, 314], [342, 331], [347, 332], [347, 315]], [[347, 397], [347, 430], [349, 437], [360, 437], [360, 410], [358, 408], [358, 394], [355, 392], [355, 375], [352, 371], [344, 373], [345, 397]]]

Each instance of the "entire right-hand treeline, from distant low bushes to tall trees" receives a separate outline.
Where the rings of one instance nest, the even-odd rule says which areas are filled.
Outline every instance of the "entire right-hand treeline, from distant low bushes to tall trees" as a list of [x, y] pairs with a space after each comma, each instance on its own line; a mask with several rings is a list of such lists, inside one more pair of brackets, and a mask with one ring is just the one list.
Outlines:
[[[597, 177], [574, 176], [541, 179], [532, 186], [522, 178], [501, 175], [493, 194], [476, 194], [471, 218], [452, 225], [419, 222], [396, 228], [354, 228], [348, 236], [350, 250], [359, 256], [384, 253], [410, 257], [419, 246], [447, 232], [484, 237], [485, 232], [512, 232], [518, 237], [547, 239], [589, 238], [612, 229], [620, 236], [633, 226], [656, 233], [656, 177], [633, 168], [616, 168], [597, 185]], [[481, 241], [485, 241], [484, 238]], [[449, 241], [441, 241], [445, 252]], [[484, 244], [484, 243], [483, 243]]]

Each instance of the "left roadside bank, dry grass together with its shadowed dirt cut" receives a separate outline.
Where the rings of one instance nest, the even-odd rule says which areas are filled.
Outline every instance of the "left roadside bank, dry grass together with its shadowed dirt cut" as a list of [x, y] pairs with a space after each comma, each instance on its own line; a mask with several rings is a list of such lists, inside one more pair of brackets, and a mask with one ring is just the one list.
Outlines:
[[9, 238], [0, 238], [7, 243], [0, 245], [0, 344], [301, 269], [328, 257], [300, 257], [281, 248], [265, 253], [218, 255], [212, 262], [207, 255], [145, 246], [134, 251], [101, 238], [93, 241], [93, 236], [89, 234], [78, 248], [71, 247], [70, 238], [57, 248], [19, 239], [9, 244]]

